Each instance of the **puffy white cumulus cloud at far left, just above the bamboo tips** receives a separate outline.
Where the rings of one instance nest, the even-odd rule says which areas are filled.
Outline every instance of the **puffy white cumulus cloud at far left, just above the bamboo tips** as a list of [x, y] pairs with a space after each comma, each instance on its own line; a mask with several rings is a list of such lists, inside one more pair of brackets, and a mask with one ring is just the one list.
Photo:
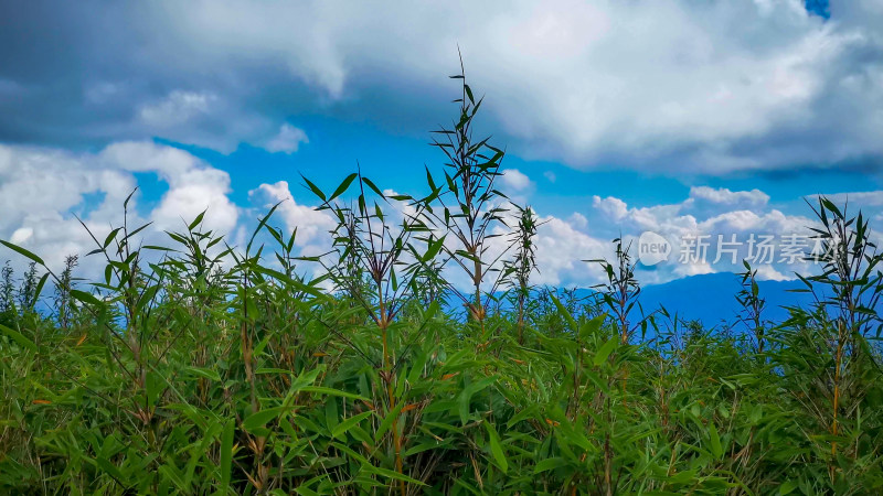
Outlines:
[[98, 153], [0, 144], [0, 238], [58, 267], [65, 256], [93, 248], [74, 214], [98, 237], [120, 225], [135, 173], [157, 174], [168, 185], [152, 208], [139, 206], [140, 195], [129, 204], [130, 226], [153, 223], [146, 236], [164, 237], [162, 230], [179, 230], [206, 208], [205, 228], [224, 235], [237, 224], [230, 176], [183, 150], [152, 142], [113, 143]]

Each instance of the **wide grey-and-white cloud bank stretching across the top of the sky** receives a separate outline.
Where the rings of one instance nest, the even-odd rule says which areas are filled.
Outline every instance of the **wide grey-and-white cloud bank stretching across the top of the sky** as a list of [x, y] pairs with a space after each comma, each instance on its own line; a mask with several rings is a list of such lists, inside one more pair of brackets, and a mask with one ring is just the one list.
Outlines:
[[302, 112], [428, 129], [459, 43], [487, 123], [525, 158], [662, 174], [883, 165], [879, 2], [836, 2], [828, 21], [801, 0], [466, 8], [17, 6], [3, 18], [24, 28], [0, 30], [0, 88], [17, 93], [0, 137], [232, 150]]

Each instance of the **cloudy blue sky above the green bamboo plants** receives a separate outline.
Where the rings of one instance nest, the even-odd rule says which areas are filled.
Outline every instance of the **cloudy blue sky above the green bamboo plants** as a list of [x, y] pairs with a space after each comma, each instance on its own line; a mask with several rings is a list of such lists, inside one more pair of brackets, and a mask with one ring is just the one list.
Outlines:
[[883, 227], [883, 0], [38, 0], [0, 4], [0, 239], [57, 266], [92, 249], [75, 215], [109, 231], [139, 186], [148, 237], [208, 208], [242, 244], [284, 201], [318, 252], [301, 174], [425, 193], [458, 50], [500, 185], [544, 222], [538, 283], [597, 283], [582, 260], [648, 231], [671, 250], [648, 284], [746, 257], [794, 279], [819, 194]]

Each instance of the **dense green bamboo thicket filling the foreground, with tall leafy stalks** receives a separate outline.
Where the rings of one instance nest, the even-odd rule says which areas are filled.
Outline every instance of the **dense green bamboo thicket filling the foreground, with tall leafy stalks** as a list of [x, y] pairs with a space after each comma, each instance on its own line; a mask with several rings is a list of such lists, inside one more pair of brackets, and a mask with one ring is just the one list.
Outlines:
[[456, 78], [426, 195], [305, 180], [338, 220], [321, 257], [273, 211], [235, 249], [203, 216], [142, 246], [124, 212], [92, 283], [3, 242], [32, 265], [0, 278], [0, 493], [883, 490], [866, 219], [813, 204], [817, 303], [786, 322], [748, 266], [732, 328], [645, 313], [619, 240], [594, 296], [534, 288], [538, 219]]

